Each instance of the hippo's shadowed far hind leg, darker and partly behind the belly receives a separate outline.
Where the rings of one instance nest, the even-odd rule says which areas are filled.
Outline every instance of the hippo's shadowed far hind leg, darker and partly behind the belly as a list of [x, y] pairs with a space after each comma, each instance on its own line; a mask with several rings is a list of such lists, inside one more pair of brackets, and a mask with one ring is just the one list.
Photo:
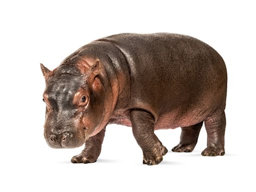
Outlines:
[[180, 141], [171, 150], [174, 152], [191, 152], [197, 142], [202, 122], [191, 126], [181, 127]]

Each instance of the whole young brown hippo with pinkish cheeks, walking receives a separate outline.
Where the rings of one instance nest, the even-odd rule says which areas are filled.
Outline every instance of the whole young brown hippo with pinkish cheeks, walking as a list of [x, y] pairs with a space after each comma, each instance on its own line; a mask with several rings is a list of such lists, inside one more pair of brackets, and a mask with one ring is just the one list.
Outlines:
[[224, 155], [226, 67], [206, 43], [173, 33], [121, 33], [94, 40], [49, 70], [44, 137], [53, 148], [85, 144], [73, 163], [95, 162], [105, 127], [131, 126], [143, 164], [167, 149], [157, 129], [181, 127], [174, 152], [191, 152], [204, 122], [204, 156]]

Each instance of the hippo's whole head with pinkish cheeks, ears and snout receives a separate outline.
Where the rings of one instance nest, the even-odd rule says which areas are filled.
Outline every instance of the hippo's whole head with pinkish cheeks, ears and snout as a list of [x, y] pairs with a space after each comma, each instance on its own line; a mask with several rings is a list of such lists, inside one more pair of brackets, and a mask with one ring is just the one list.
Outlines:
[[50, 71], [41, 64], [46, 87], [44, 137], [50, 147], [81, 146], [110, 118], [113, 94], [98, 59], [63, 62]]

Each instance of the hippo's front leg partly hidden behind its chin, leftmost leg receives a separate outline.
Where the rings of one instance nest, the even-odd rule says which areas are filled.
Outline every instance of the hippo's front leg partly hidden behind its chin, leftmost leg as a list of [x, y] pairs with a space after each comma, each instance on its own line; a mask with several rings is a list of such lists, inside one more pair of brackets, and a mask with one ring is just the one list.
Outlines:
[[84, 149], [80, 154], [73, 156], [71, 162], [73, 163], [89, 163], [96, 162], [100, 151], [101, 144], [105, 135], [105, 127], [96, 135], [89, 137], [85, 141]]

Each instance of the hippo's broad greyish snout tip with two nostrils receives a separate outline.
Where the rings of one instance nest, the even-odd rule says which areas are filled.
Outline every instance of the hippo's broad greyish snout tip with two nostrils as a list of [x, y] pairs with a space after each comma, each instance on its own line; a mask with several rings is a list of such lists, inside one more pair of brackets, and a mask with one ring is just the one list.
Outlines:
[[60, 134], [50, 133], [46, 141], [52, 148], [73, 148], [81, 145], [80, 142], [74, 138], [74, 133], [66, 131]]

